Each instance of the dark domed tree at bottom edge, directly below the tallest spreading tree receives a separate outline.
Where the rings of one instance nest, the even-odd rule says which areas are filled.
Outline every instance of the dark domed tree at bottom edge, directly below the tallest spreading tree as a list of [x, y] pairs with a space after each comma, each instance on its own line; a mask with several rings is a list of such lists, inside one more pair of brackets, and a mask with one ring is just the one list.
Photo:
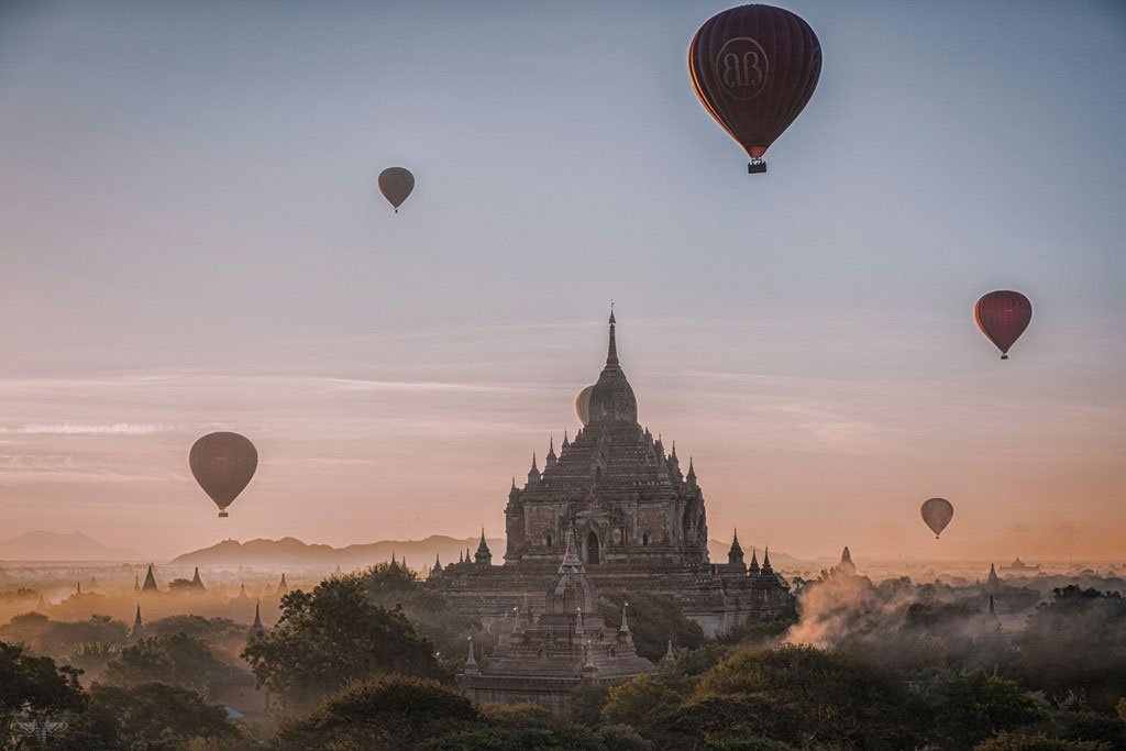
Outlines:
[[352, 683], [307, 715], [279, 726], [271, 748], [413, 749], [443, 734], [482, 726], [458, 691], [420, 678], [387, 674]]

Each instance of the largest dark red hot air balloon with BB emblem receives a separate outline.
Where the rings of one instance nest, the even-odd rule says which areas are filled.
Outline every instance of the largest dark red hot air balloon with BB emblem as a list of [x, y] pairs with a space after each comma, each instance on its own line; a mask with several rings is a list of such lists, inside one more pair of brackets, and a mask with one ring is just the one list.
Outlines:
[[688, 73], [700, 104], [766, 172], [770, 144], [813, 96], [821, 43], [798, 16], [771, 6], [741, 6], [713, 16], [688, 47]]

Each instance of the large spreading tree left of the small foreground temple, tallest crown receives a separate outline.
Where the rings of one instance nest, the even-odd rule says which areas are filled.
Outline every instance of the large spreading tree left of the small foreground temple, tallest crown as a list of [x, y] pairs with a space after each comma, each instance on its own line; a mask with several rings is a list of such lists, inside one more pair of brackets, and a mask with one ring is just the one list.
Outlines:
[[276, 697], [307, 706], [382, 673], [437, 677], [434, 652], [402, 613], [373, 602], [360, 578], [345, 576], [286, 594], [277, 625], [243, 656]]

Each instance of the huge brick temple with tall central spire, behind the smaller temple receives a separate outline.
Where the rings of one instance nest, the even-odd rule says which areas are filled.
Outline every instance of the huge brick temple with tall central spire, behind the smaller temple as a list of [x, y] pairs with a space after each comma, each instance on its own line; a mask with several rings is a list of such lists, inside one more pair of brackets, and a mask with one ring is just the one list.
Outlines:
[[789, 587], [770, 567], [743, 562], [738, 538], [727, 562], [712, 564], [707, 513], [692, 463], [680, 468], [676, 447], [637, 423], [637, 399], [618, 360], [610, 314], [606, 366], [590, 392], [587, 424], [543, 472], [533, 458], [524, 488], [516, 482], [504, 509], [504, 563], [492, 565], [482, 534], [471, 560], [443, 567], [430, 581], [461, 609], [503, 628], [518, 608], [544, 611], [546, 583], [555, 574], [569, 535], [600, 590], [634, 590], [674, 598], [707, 634], [774, 617], [790, 601]]

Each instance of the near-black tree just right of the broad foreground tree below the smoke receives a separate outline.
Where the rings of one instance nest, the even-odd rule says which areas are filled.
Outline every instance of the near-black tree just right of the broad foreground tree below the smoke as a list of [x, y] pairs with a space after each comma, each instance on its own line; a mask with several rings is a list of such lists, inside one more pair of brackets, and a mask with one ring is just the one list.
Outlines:
[[1046, 717], [1016, 682], [983, 672], [951, 676], [932, 694], [930, 704], [936, 732], [958, 748]]

